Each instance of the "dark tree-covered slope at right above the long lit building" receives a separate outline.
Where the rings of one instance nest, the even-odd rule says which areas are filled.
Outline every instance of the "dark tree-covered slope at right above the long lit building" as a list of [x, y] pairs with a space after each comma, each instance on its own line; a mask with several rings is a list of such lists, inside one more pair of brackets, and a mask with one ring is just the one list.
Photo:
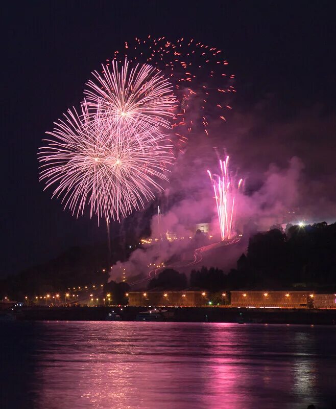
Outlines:
[[247, 255], [230, 271], [231, 288], [335, 289], [336, 223], [287, 226], [250, 238]]

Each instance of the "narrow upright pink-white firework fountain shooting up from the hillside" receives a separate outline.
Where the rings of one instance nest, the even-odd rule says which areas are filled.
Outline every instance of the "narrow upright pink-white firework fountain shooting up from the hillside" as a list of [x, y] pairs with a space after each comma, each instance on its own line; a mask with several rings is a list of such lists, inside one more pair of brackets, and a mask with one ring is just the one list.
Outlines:
[[231, 239], [234, 228], [234, 217], [237, 207], [237, 193], [243, 188], [243, 179], [238, 184], [229, 172], [229, 156], [225, 161], [220, 160], [220, 174], [212, 175], [208, 170], [213, 186], [216, 201], [218, 221], [221, 231], [221, 239]]

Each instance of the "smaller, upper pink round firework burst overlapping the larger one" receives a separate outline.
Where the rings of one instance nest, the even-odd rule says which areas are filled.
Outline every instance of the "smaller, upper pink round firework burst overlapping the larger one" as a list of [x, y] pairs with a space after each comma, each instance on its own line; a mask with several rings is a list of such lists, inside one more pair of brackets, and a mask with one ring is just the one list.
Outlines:
[[157, 69], [139, 63], [130, 67], [125, 58], [121, 65], [113, 60], [111, 69], [103, 65], [102, 75], [92, 74], [95, 81], [86, 84], [85, 103], [94, 113], [99, 106], [101, 119], [128, 129], [171, 128], [176, 99], [171, 83]]

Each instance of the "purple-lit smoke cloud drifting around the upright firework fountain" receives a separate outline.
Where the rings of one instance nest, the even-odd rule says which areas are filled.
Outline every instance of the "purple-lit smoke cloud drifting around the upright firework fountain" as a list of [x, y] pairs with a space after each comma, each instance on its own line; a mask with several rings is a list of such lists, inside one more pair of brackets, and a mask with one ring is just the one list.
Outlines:
[[268, 97], [249, 112], [233, 112], [224, 128], [213, 124], [209, 138], [203, 134], [190, 136], [186, 151], [179, 155], [173, 169], [171, 183], [159, 200], [161, 237], [174, 232], [184, 239], [163, 240], [158, 249], [155, 214], [151, 220], [153, 244], [136, 249], [127, 262], [117, 262], [110, 279], [115, 279], [120, 267], [126, 268], [128, 277], [146, 277], [150, 268], [161, 262], [178, 266], [176, 260], [192, 260], [193, 248], [199, 244], [195, 229], [191, 229], [196, 223], [209, 223], [211, 235], [219, 238], [213, 191], [206, 174], [207, 169], [218, 167], [216, 151], [221, 157], [229, 153], [231, 169], [245, 179], [245, 193], [238, 198], [238, 232], [250, 220], [259, 231], [265, 231], [274, 224], [336, 219], [336, 193], [332, 189], [336, 183], [334, 113], [310, 107], [289, 115], [286, 121], [270, 121], [272, 104], [274, 100]]

